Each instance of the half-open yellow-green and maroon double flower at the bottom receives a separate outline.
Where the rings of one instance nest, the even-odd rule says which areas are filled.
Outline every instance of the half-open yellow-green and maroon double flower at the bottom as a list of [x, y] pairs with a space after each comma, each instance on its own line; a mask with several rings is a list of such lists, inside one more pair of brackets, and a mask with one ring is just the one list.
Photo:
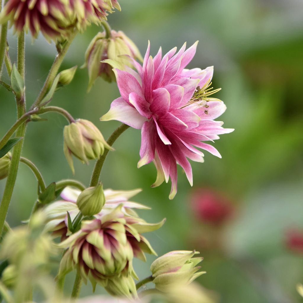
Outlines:
[[68, 250], [62, 258], [58, 278], [77, 268], [93, 288], [98, 283], [111, 294], [136, 297], [133, 278], [137, 276], [132, 260], [136, 257], [145, 261], [144, 253], [156, 255], [141, 234], [160, 228], [164, 221], [148, 224], [141, 218], [125, 215], [122, 206], [84, 221], [78, 232], [59, 245]]

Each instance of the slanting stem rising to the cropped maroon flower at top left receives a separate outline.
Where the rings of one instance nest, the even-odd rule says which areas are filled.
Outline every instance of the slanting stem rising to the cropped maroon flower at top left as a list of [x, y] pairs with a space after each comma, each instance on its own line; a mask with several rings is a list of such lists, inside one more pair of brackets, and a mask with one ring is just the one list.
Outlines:
[[48, 92], [50, 86], [52, 85], [52, 83], [54, 82], [54, 79], [58, 73], [58, 70], [60, 68], [60, 65], [68, 51], [69, 46], [72, 44], [73, 39], [75, 38], [76, 34], [78, 33], [78, 31], [74, 31], [72, 33], [72, 35], [70, 36], [69, 40], [66, 42], [66, 44], [64, 45], [64, 47], [62, 48], [61, 52], [58, 52], [55, 61], [48, 73], [48, 76], [44, 82], [44, 85], [41, 89], [40, 94], [38, 95], [36, 101], [33, 103], [33, 105], [31, 106], [31, 110], [34, 109], [35, 107], [38, 107], [39, 104], [41, 103], [42, 99], [44, 98], [44, 96], [46, 95], [46, 93]]

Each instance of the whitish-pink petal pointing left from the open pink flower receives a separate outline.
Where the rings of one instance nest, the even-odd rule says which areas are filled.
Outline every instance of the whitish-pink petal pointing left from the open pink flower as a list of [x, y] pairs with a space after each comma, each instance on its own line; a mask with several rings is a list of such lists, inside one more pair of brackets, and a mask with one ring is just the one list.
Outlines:
[[110, 110], [100, 120], [118, 120], [133, 128], [140, 129], [147, 118], [140, 115], [134, 107], [125, 102], [122, 97], [119, 97], [112, 102]]

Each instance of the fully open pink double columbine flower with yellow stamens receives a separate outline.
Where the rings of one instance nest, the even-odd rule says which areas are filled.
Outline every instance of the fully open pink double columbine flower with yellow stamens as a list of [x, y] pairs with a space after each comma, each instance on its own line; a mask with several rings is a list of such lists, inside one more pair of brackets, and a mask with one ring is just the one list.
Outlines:
[[188, 159], [204, 161], [203, 153], [197, 148], [221, 158], [219, 152], [204, 141], [213, 142], [218, 135], [234, 130], [214, 121], [225, 112], [226, 106], [211, 96], [219, 90], [211, 87], [213, 67], [185, 69], [195, 55], [197, 44], [186, 51], [184, 44], [177, 54], [173, 48], [163, 58], [160, 48], [153, 58], [149, 55], [148, 43], [143, 66], [129, 58], [138, 72], [105, 60], [114, 67], [121, 97], [112, 102], [109, 112], [100, 120], [118, 120], [141, 129], [138, 167], [154, 162], [157, 179], [152, 187], [164, 180], [168, 182], [170, 177], [170, 199], [177, 192], [177, 163], [192, 185]]

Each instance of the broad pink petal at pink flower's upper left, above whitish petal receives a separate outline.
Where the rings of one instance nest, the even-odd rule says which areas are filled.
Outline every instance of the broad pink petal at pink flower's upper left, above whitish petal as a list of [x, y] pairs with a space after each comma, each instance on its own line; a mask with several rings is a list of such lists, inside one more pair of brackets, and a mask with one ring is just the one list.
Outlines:
[[138, 80], [128, 72], [121, 71], [114, 68], [116, 74], [117, 85], [121, 94], [121, 97], [128, 102], [128, 96], [130, 93], [135, 92], [137, 95], [142, 96], [142, 87]]

